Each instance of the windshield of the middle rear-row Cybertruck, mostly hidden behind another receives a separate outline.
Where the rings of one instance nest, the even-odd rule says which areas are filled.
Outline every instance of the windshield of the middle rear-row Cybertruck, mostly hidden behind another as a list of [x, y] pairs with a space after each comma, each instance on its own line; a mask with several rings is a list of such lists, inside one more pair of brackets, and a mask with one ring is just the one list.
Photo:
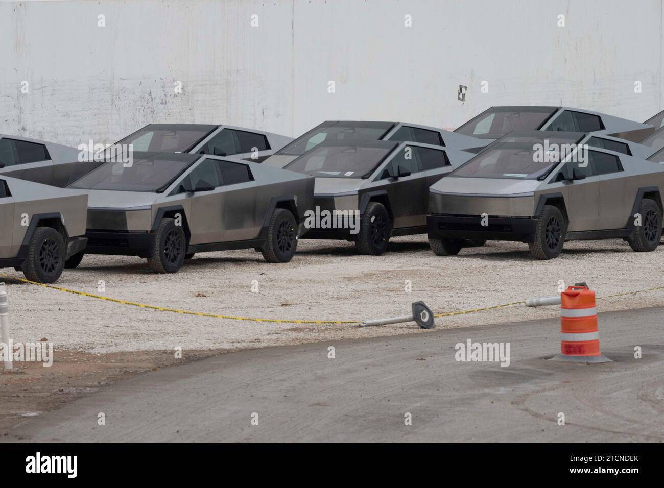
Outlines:
[[377, 141], [391, 126], [387, 122], [335, 122], [325, 127], [319, 125], [297, 137], [277, 154], [299, 156], [323, 141]]

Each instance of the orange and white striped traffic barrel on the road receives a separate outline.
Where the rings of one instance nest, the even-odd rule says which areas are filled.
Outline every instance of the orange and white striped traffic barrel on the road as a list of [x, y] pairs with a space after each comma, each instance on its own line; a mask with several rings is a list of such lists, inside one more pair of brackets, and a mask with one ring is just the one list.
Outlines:
[[595, 292], [584, 285], [568, 287], [560, 293], [560, 354], [558, 361], [607, 363], [600, 352]]

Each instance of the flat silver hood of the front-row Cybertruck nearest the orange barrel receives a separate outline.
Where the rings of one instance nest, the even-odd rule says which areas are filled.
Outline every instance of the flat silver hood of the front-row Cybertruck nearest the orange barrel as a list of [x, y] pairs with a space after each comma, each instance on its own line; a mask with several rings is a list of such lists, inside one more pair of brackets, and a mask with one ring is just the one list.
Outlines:
[[522, 195], [533, 193], [542, 181], [509, 178], [460, 178], [447, 177], [431, 186], [432, 193], [457, 193], [459, 195]]

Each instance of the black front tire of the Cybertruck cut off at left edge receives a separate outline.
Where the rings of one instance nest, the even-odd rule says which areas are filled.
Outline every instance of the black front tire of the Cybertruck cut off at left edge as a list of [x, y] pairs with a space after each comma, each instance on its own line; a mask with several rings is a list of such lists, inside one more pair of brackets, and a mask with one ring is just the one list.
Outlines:
[[25, 278], [31, 282], [55, 283], [64, 269], [66, 252], [60, 232], [50, 227], [37, 227], [22, 267]]

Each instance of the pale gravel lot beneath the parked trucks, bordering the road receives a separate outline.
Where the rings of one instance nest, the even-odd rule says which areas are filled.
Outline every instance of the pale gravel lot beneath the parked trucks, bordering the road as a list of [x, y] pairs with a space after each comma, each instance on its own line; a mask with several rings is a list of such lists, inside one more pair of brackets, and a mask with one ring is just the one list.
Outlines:
[[[412, 301], [434, 311], [473, 309], [556, 294], [558, 280], [586, 281], [598, 297], [664, 285], [664, 247], [636, 253], [622, 240], [568, 242], [550, 261], [531, 258], [526, 244], [489, 242], [458, 256], [434, 256], [426, 236], [394, 238], [384, 256], [360, 256], [348, 242], [301, 240], [288, 264], [269, 264], [253, 250], [198, 254], [177, 274], [152, 274], [145, 260], [86, 256], [57, 285], [89, 293], [103, 280], [108, 297], [189, 311], [274, 319], [357, 320], [406, 315]], [[13, 270], [0, 270], [23, 278]], [[258, 280], [259, 291], [251, 291]], [[404, 291], [405, 280], [412, 291]], [[294, 325], [181, 315], [81, 297], [6, 281], [11, 332], [18, 341], [48, 338], [54, 349], [108, 353], [187, 349], [245, 349], [396, 335], [414, 323]], [[664, 291], [600, 299], [599, 311], [664, 305]], [[555, 317], [556, 307], [509, 307], [444, 317], [436, 327]], [[426, 331], [422, 331], [426, 333]], [[600, 323], [601, 336], [601, 323]], [[552, 351], [555, 352], [555, 351]]]

